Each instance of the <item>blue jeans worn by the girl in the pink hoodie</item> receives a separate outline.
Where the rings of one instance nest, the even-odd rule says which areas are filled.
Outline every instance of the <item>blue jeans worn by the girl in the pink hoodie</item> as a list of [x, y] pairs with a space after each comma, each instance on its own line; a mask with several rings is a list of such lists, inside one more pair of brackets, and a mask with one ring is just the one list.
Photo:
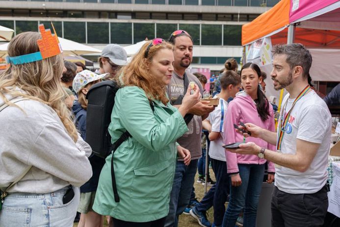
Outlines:
[[223, 227], [235, 227], [243, 210], [243, 227], [256, 226], [256, 214], [262, 189], [264, 164], [238, 164], [242, 184], [231, 186], [229, 205], [224, 214]]

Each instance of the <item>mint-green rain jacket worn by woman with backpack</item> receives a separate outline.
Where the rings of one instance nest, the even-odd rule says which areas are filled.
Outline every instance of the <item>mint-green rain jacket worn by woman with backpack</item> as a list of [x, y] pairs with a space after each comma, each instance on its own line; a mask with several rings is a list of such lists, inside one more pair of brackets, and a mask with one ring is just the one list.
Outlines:
[[113, 155], [120, 202], [113, 197], [111, 155], [99, 178], [93, 210], [129, 222], [150, 222], [168, 215], [170, 192], [176, 168], [177, 143], [188, 128], [170, 103], [149, 100], [141, 88], [118, 90], [108, 127], [112, 142], [127, 130], [131, 138]]

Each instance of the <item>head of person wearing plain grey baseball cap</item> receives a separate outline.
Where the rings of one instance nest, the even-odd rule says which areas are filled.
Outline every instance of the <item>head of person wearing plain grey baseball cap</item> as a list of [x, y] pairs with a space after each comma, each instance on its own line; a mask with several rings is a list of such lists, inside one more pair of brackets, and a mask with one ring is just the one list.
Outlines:
[[100, 69], [96, 73], [109, 73], [110, 75], [106, 79], [114, 78], [118, 69], [126, 65], [127, 57], [128, 55], [123, 47], [117, 44], [106, 45], [98, 59]]

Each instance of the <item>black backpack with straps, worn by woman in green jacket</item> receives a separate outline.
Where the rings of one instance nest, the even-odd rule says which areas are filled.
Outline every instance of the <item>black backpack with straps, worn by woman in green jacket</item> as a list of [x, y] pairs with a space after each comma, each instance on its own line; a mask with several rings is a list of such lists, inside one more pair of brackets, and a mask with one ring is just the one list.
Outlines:
[[[114, 106], [114, 98], [120, 86], [115, 81], [102, 81], [93, 85], [87, 92], [86, 98], [87, 115], [86, 115], [86, 142], [91, 146], [94, 155], [106, 158], [131, 137], [126, 131], [113, 144], [111, 136], [108, 133], [108, 125], [111, 122], [111, 113]], [[150, 107], [154, 112], [153, 102], [150, 101]], [[114, 200], [119, 202], [116, 180], [113, 169], [113, 155], [111, 158], [111, 178]]]

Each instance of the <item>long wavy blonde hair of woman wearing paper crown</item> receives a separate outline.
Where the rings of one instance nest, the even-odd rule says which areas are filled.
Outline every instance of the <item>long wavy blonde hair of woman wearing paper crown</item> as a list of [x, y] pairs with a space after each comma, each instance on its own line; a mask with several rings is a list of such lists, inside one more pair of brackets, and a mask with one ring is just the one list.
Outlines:
[[[8, 45], [8, 55], [14, 57], [38, 52], [37, 39], [41, 39], [41, 35], [31, 31], [15, 36]], [[8, 101], [5, 94], [21, 96], [50, 106], [76, 142], [77, 129], [70, 118], [71, 113], [64, 102], [64, 91], [60, 85], [63, 67], [62, 55], [25, 64], [11, 64], [0, 74], [0, 97], [10, 106], [17, 105]]]

